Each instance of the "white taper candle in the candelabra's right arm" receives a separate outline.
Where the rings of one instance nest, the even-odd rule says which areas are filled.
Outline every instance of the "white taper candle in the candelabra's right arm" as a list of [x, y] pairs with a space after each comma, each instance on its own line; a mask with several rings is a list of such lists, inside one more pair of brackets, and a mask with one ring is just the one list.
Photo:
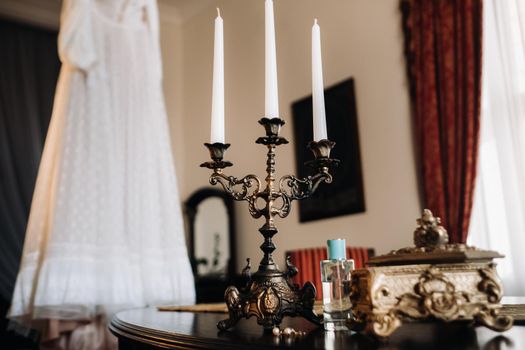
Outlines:
[[324, 107], [323, 60], [321, 58], [321, 29], [317, 18], [312, 27], [312, 100], [314, 141], [328, 139]]

